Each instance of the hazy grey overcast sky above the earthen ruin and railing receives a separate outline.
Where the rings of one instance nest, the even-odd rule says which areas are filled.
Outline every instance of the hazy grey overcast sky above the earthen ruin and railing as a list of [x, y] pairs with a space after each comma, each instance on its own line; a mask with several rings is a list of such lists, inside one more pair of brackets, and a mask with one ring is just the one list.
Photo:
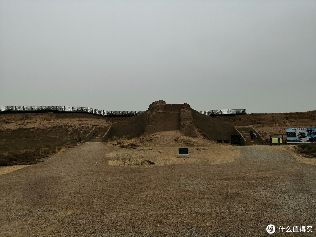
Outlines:
[[316, 110], [316, 1], [0, 0], [0, 106]]

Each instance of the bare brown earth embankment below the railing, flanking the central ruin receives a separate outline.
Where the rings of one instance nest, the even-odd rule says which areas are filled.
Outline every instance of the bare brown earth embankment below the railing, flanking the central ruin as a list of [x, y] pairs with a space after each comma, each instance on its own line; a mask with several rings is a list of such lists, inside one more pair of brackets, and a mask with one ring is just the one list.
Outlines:
[[[215, 116], [236, 127], [252, 126], [265, 139], [274, 135], [286, 135], [288, 127], [316, 127], [316, 110], [292, 113], [252, 113], [234, 116]], [[108, 127], [128, 119], [111, 118], [84, 113], [20, 113], [0, 114], [0, 130], [20, 128], [48, 128], [53, 126]]]

